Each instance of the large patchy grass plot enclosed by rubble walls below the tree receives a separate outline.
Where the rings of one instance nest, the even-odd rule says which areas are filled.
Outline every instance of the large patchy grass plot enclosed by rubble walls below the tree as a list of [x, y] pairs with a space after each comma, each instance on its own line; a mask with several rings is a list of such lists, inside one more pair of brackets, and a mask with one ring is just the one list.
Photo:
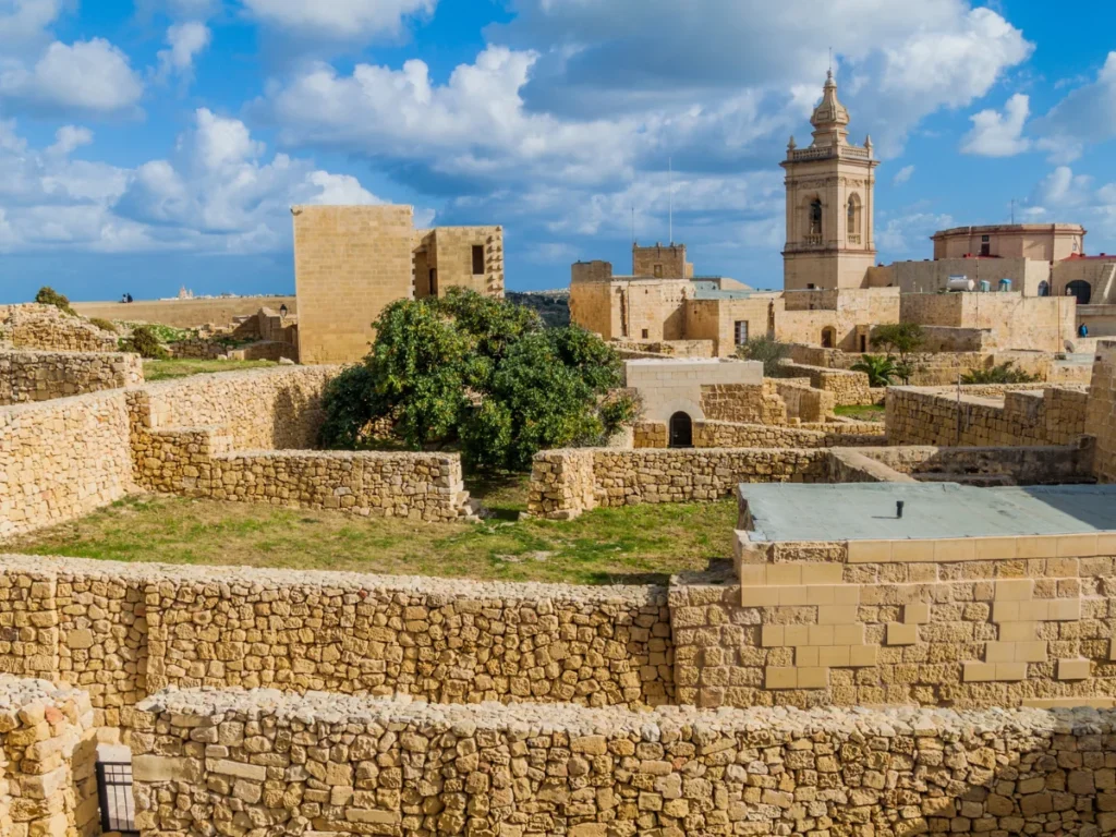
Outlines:
[[4, 545], [11, 552], [570, 584], [665, 583], [732, 555], [735, 503], [597, 509], [518, 520], [526, 477], [470, 485], [497, 516], [423, 523], [171, 497], [121, 500]]

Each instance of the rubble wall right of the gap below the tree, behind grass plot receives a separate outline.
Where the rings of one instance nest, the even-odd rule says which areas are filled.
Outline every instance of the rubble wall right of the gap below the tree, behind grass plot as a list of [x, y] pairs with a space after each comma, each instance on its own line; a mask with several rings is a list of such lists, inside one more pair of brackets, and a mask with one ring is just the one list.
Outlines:
[[720, 500], [741, 482], [825, 482], [827, 468], [822, 449], [540, 451], [527, 508], [536, 517], [571, 518], [597, 507]]

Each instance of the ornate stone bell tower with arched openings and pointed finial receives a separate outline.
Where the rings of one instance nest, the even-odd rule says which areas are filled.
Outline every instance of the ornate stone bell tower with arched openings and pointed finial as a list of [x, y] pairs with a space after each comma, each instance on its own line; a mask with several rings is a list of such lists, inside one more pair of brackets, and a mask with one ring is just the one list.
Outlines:
[[873, 239], [872, 138], [848, 143], [848, 110], [837, 98], [833, 70], [814, 109], [814, 142], [787, 145], [787, 246], [782, 282], [787, 290], [860, 288], [876, 262]]

